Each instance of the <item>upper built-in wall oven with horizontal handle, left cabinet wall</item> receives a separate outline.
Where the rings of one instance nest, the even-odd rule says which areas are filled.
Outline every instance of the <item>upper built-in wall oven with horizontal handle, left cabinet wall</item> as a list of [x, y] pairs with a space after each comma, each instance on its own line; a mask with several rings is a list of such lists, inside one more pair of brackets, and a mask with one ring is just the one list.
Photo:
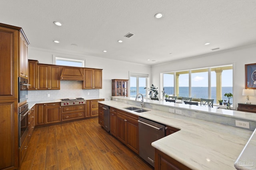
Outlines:
[[18, 77], [18, 102], [24, 102], [28, 99], [28, 79]]

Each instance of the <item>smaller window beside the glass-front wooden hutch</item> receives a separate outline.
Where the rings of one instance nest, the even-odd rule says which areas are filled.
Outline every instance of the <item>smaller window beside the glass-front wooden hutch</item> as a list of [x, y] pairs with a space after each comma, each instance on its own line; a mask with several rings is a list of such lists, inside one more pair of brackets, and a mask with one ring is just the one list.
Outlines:
[[130, 97], [136, 98], [137, 94], [147, 96], [148, 74], [130, 74]]

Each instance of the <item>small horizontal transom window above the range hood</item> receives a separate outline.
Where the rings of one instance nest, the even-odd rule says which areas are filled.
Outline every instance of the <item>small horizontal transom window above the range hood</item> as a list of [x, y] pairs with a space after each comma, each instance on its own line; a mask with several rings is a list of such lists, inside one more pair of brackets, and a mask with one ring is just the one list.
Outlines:
[[54, 57], [54, 64], [62, 66], [84, 67], [84, 60]]

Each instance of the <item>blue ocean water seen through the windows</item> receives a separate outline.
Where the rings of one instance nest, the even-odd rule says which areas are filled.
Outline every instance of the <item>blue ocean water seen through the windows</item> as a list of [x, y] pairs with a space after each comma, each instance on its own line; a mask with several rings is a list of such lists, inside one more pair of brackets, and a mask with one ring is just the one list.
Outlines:
[[[232, 87], [222, 87], [222, 100], [227, 100], [228, 98], [224, 96], [225, 93], [232, 93]], [[208, 98], [208, 87], [192, 87], [192, 98]], [[158, 90], [160, 92], [160, 90]], [[139, 88], [139, 93], [143, 94], [145, 97], [146, 94], [149, 92], [147, 89], [144, 89], [144, 87]], [[170, 95], [174, 94], [174, 87], [164, 87], [164, 93]], [[136, 87], [130, 87], [130, 96], [136, 97]], [[182, 96], [182, 97], [188, 97], [188, 87], [180, 87], [179, 88], [179, 94], [176, 94], [176, 96]], [[218, 100], [216, 100], [216, 87], [211, 88], [211, 98], [214, 99], [214, 103], [218, 103]], [[230, 103], [232, 103], [232, 98], [230, 99]]]

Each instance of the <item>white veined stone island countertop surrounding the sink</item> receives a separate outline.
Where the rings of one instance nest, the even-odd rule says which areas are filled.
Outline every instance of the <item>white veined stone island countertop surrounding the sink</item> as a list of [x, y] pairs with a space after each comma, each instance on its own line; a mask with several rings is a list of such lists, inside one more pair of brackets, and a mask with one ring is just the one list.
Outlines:
[[[104, 101], [99, 103], [180, 129], [180, 131], [172, 135], [153, 142], [152, 146], [191, 169], [234, 170], [234, 161], [240, 155], [253, 133], [246, 129], [221, 125], [155, 109], [148, 109], [150, 111], [137, 113], [124, 109], [124, 107], [133, 105], [123, 102]], [[152, 103], [161, 104], [160, 101]], [[178, 106], [179, 104], [171, 103], [170, 105], [179, 108], [188, 107], [186, 109], [197, 109], [197, 107], [186, 105]], [[220, 114], [223, 112], [221, 110], [224, 110], [214, 110], [213, 108], [207, 107], [202, 108], [203, 111], [209, 109], [211, 112], [217, 112], [216, 114]], [[231, 112], [228, 111], [228, 113]]]

